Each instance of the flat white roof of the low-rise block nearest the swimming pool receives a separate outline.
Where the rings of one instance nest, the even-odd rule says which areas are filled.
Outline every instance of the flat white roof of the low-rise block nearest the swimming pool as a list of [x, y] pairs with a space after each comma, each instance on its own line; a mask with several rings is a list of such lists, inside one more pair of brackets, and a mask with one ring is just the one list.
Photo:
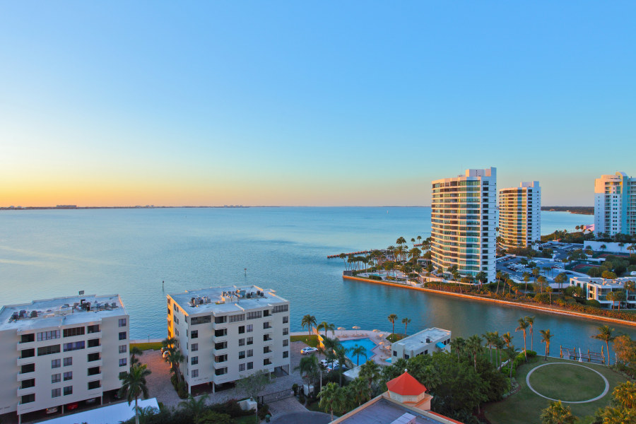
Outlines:
[[[237, 293], [240, 293], [240, 296], [237, 296]], [[226, 285], [224, 287], [199, 288], [169, 296], [188, 315], [208, 314], [210, 312], [215, 314], [242, 312], [244, 310], [254, 310], [288, 303], [287, 300], [276, 295], [276, 290], [262, 289], [257, 285]], [[191, 303], [192, 298], [203, 300], [203, 302], [194, 302], [193, 305]]]

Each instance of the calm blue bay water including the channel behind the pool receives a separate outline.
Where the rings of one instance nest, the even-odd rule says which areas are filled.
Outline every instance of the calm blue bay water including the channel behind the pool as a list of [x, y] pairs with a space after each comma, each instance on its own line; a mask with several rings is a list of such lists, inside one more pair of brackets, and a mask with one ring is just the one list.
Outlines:
[[[388, 213], [387, 213], [388, 211]], [[592, 223], [592, 216], [544, 212], [543, 232]], [[391, 329], [409, 317], [454, 336], [513, 331], [529, 312], [481, 302], [343, 281], [328, 254], [387, 247], [398, 236], [430, 235], [430, 208], [171, 208], [0, 212], [0, 304], [86, 293], [119, 293], [133, 338], [165, 336], [165, 294], [211, 285], [256, 284], [303, 314], [336, 326]], [[244, 269], [247, 268], [247, 275]], [[162, 285], [165, 281], [165, 285]], [[536, 314], [560, 344], [600, 349], [598, 324]], [[630, 328], [616, 327], [636, 337]], [[396, 329], [401, 329], [396, 323]], [[519, 333], [514, 343], [519, 346]], [[541, 350], [542, 346], [538, 346]], [[535, 346], [537, 348], [537, 346]]]

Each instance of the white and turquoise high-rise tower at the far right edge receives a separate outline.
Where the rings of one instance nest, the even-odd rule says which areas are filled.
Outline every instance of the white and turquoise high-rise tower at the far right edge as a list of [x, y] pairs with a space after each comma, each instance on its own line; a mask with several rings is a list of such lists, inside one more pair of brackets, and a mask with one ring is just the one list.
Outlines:
[[594, 180], [594, 232], [636, 235], [636, 178], [616, 172]]

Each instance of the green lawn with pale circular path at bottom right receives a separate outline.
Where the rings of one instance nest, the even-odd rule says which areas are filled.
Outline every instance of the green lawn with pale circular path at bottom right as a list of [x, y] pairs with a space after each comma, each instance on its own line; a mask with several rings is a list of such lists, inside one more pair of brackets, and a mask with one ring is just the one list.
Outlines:
[[[526, 375], [537, 367], [545, 364], [543, 357], [534, 358], [533, 362], [525, 364], [517, 369], [517, 382], [519, 383], [519, 391], [509, 398], [488, 404], [485, 406], [485, 416], [493, 424], [526, 424], [537, 423], [541, 415], [541, 410], [546, 408], [550, 401], [529, 389], [526, 384]], [[596, 365], [589, 363], [576, 363], [570, 360], [559, 358], [548, 358], [547, 363], [570, 363], [579, 364], [599, 371], [609, 382], [609, 391], [598, 401], [587, 404], [566, 404], [572, 408], [575, 416], [582, 418], [581, 423], [587, 423], [589, 420], [583, 420], [586, 416], [593, 416], [598, 408], [602, 408], [609, 404], [612, 399], [611, 393], [617, 384], [626, 381], [626, 378], [610, 370], [605, 365]], [[586, 370], [582, 367], [568, 365], [548, 365], [541, 367], [530, 376], [530, 384], [536, 391], [544, 396], [553, 399], [563, 399], [566, 401], [577, 401], [591, 399], [599, 396], [605, 388], [605, 382], [595, 372]]]

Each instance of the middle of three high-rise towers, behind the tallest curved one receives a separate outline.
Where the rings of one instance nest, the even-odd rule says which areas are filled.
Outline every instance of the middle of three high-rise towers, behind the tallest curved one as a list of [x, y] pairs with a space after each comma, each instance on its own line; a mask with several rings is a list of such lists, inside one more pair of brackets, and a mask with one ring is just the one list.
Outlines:
[[499, 190], [500, 247], [529, 247], [541, 241], [541, 187], [538, 181]]

